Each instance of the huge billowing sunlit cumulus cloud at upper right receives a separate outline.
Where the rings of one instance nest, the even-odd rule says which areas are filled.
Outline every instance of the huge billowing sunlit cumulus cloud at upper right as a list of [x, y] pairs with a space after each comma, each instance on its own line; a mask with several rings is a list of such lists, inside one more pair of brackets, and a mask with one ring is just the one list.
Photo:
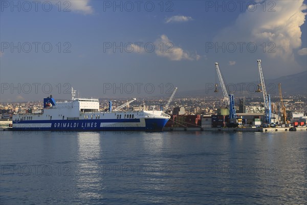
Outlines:
[[[234, 25], [221, 31], [216, 40], [254, 42], [257, 45], [266, 42], [266, 53], [271, 57], [293, 59], [293, 49], [301, 46], [300, 26], [305, 21], [306, 13], [303, 11], [306, 5], [303, 4], [303, 0], [275, 1], [275, 3], [274, 12], [264, 12], [260, 9], [260, 5], [254, 11], [251, 11], [252, 8], [247, 9], [237, 17]], [[270, 42], [274, 45], [268, 45]], [[275, 52], [268, 52], [273, 47]]]

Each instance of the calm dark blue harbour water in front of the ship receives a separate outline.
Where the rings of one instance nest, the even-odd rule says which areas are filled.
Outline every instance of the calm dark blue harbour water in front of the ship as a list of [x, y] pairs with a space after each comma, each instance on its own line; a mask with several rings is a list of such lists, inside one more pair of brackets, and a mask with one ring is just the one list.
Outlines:
[[0, 204], [306, 204], [306, 132], [1, 132]]

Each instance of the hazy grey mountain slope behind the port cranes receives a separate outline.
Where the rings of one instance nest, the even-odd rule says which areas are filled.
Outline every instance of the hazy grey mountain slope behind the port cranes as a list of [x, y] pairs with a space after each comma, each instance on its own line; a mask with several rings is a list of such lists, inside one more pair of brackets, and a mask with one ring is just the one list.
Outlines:
[[[243, 85], [243, 92], [240, 92], [240, 87], [238, 84], [236, 85], [236, 92], [234, 92], [234, 95], [236, 96], [251, 96], [254, 94], [254, 90], [256, 88], [256, 85], [259, 84], [257, 81], [253, 82], [244, 82], [245, 85]], [[281, 90], [283, 95], [306, 95], [307, 94], [307, 71], [297, 73], [297, 74], [291, 74], [287, 76], [278, 77], [275, 79], [265, 79], [267, 92], [272, 95], [278, 95], [278, 84], [281, 84]], [[252, 84], [252, 85], [251, 85]], [[247, 86], [250, 85], [250, 91], [248, 91]], [[218, 83], [218, 86], [220, 86], [220, 83]], [[230, 86], [230, 89], [233, 87]], [[204, 83], [204, 89], [201, 90], [193, 90], [193, 91], [178, 91], [176, 93], [177, 97], [196, 97], [196, 96], [212, 96], [216, 95], [214, 92], [214, 89], [208, 89], [206, 91], [206, 85]], [[222, 90], [218, 90], [218, 94], [222, 96]]]

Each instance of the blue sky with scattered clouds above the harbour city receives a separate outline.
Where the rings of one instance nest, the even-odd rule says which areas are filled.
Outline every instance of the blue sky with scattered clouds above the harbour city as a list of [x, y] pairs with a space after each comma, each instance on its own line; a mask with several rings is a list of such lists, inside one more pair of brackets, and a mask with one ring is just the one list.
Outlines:
[[[129, 96], [102, 92], [121, 83], [199, 90], [215, 83], [216, 61], [227, 83], [256, 81], [259, 58], [268, 79], [307, 69], [303, 1], [139, 1], [139, 8], [135, 1], [61, 1], [61, 8], [59, 2], [40, 1], [36, 11], [32, 1], [1, 0], [1, 101], [46, 96], [33, 83], [50, 84], [59, 97], [68, 96], [65, 83], [82, 97]], [[123, 52], [106, 47], [121, 43]], [[18, 83], [32, 91], [6, 87]]]

